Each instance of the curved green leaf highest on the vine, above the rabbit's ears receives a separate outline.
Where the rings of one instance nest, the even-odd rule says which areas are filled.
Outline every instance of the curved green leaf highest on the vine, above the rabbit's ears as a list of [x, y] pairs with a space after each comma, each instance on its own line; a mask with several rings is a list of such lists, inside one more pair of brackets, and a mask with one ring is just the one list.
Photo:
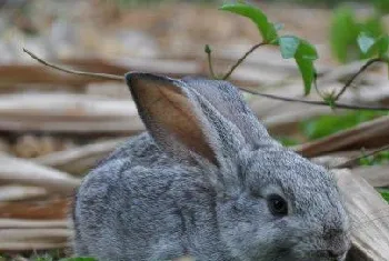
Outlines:
[[229, 11], [251, 19], [251, 21], [253, 21], [258, 27], [263, 42], [270, 43], [278, 37], [276, 27], [268, 21], [267, 16], [259, 8], [238, 2], [223, 4], [220, 10]]

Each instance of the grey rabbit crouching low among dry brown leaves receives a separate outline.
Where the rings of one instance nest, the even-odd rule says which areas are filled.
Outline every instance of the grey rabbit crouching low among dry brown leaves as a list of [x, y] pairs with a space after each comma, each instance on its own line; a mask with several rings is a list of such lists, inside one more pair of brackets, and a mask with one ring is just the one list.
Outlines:
[[102, 261], [342, 261], [335, 178], [273, 140], [227, 81], [124, 76], [147, 131], [83, 179], [74, 253]]

